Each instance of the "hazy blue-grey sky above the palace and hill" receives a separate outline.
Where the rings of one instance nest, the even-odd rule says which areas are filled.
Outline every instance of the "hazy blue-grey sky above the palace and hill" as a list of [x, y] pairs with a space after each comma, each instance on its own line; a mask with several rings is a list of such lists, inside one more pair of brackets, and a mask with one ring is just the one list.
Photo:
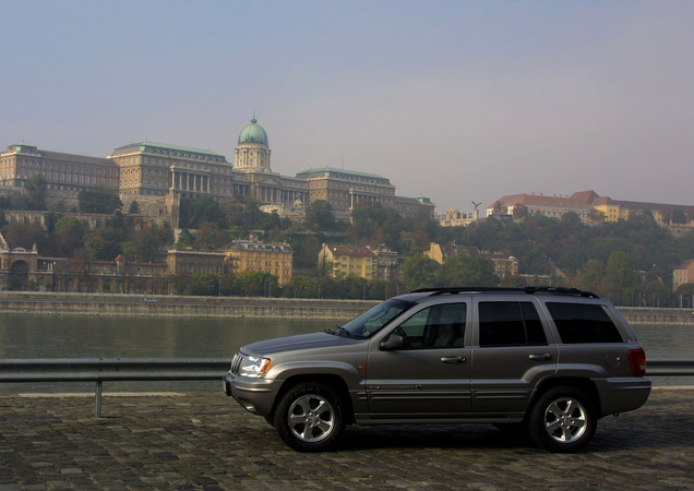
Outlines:
[[0, 0], [2, 147], [143, 140], [344, 166], [436, 212], [595, 190], [694, 205], [694, 1]]

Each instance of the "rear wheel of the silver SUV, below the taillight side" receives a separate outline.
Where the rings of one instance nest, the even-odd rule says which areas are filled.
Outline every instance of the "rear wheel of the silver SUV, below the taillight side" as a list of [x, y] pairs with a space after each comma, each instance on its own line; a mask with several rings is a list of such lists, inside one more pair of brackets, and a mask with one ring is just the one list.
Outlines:
[[549, 452], [576, 452], [590, 442], [598, 417], [590, 398], [581, 390], [561, 385], [547, 391], [530, 410], [530, 436]]

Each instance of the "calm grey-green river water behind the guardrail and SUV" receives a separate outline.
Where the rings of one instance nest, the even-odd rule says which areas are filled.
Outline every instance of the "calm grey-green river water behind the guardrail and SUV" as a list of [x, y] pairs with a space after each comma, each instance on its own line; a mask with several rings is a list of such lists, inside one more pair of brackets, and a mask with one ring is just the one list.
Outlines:
[[[335, 321], [0, 315], [0, 358], [231, 358], [248, 343], [322, 331]], [[634, 325], [648, 358], [694, 358], [694, 327]], [[654, 378], [655, 385], [694, 378]], [[106, 382], [105, 392], [214, 392], [220, 382]], [[93, 392], [93, 383], [0, 383], [0, 394]]]

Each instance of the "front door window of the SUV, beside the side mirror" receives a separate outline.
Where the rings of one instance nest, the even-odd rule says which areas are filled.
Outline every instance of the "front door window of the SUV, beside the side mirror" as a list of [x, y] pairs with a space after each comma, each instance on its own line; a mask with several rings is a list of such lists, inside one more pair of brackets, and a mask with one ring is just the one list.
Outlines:
[[465, 345], [466, 303], [443, 303], [420, 310], [400, 330], [412, 348], [446, 348]]

